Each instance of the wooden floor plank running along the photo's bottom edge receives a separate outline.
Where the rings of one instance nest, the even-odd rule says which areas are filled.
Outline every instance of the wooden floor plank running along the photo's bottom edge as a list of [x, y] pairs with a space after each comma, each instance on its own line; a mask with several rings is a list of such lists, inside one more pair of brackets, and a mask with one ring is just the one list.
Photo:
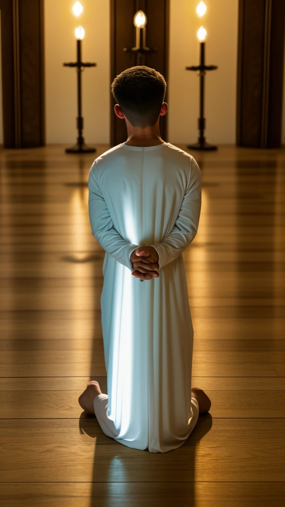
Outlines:
[[2, 507], [280, 507], [283, 482], [112, 482], [0, 484]]

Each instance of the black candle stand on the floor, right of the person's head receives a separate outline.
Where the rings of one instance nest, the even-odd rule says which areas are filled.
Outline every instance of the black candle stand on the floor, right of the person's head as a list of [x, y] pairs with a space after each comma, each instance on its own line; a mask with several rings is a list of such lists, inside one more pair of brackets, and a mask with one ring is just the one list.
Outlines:
[[198, 142], [194, 144], [188, 144], [187, 148], [190, 150], [201, 150], [201, 151], [211, 151], [217, 150], [217, 146], [214, 144], [209, 144], [206, 142], [206, 138], [204, 136], [204, 129], [206, 127], [206, 119], [204, 118], [204, 77], [206, 70], [216, 70], [217, 65], [205, 65], [205, 43], [200, 43], [200, 65], [192, 65], [191, 67], [185, 67], [186, 70], [198, 70], [200, 77], [200, 118], [198, 118], [198, 130], [199, 137]]

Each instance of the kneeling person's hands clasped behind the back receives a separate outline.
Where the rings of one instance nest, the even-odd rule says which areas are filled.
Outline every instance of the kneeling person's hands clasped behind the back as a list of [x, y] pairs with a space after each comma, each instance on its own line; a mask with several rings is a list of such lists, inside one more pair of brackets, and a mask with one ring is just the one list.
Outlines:
[[133, 265], [132, 275], [140, 280], [157, 278], [159, 273], [159, 256], [153, 246], [139, 246], [130, 256]]

